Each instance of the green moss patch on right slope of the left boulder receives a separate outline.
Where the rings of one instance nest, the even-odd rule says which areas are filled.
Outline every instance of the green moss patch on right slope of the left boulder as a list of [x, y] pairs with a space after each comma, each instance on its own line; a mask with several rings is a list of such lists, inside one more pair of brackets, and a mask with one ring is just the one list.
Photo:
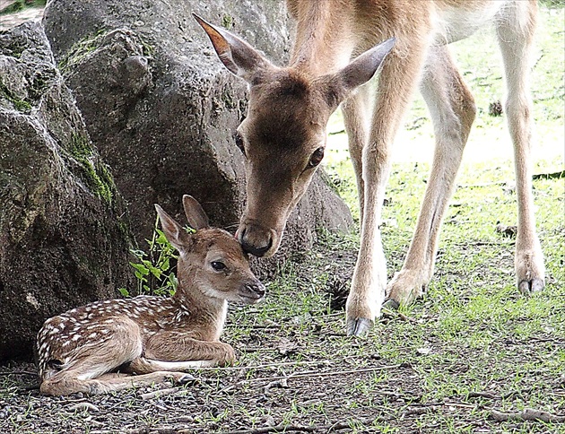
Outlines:
[[[116, 192], [114, 178], [106, 164], [95, 161], [89, 139], [84, 135], [74, 134], [69, 152], [83, 169], [83, 181], [92, 193], [108, 204], [112, 204]], [[95, 162], [94, 162], [95, 161]]]

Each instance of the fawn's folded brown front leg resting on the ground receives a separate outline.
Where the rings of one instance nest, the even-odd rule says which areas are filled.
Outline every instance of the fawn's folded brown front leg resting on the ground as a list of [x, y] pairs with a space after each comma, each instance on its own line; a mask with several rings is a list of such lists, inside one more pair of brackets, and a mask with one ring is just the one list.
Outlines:
[[[152, 360], [153, 366], [161, 360], [192, 362], [192, 366], [187, 367], [196, 368], [196, 361], [203, 362], [200, 366], [229, 365], [235, 361], [235, 352], [228, 343], [200, 341], [182, 332], [161, 332], [145, 343], [143, 358]], [[165, 365], [161, 365], [161, 369], [163, 366]]]

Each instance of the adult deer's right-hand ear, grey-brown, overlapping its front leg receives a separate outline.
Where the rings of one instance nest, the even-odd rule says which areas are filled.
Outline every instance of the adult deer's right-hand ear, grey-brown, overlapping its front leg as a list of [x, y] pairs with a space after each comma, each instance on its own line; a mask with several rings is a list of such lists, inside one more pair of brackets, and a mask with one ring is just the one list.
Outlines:
[[335, 108], [343, 100], [347, 100], [361, 84], [369, 82], [373, 75], [377, 74], [383, 60], [395, 47], [395, 42], [395, 38], [387, 39], [357, 56], [338, 73], [320, 77], [319, 82], [326, 85], [328, 100]]

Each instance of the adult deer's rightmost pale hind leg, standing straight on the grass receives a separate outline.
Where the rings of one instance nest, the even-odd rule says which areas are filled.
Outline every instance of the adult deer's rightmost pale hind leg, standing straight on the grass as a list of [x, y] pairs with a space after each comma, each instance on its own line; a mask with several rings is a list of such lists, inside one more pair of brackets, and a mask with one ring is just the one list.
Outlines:
[[505, 111], [514, 144], [518, 225], [515, 269], [517, 288], [525, 294], [543, 290], [543, 252], [535, 231], [532, 195], [532, 100], [529, 59], [535, 31], [535, 2], [515, 2], [505, 10], [497, 33], [504, 62], [508, 95]]

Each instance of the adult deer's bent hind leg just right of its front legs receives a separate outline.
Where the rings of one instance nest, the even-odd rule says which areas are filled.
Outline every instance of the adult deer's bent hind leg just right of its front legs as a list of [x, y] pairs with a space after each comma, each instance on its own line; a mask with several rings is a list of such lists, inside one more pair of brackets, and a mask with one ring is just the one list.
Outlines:
[[386, 306], [390, 308], [412, 302], [430, 282], [439, 228], [475, 115], [473, 96], [445, 46], [430, 49], [421, 91], [430, 109], [436, 148], [412, 243], [402, 270], [387, 288]]

